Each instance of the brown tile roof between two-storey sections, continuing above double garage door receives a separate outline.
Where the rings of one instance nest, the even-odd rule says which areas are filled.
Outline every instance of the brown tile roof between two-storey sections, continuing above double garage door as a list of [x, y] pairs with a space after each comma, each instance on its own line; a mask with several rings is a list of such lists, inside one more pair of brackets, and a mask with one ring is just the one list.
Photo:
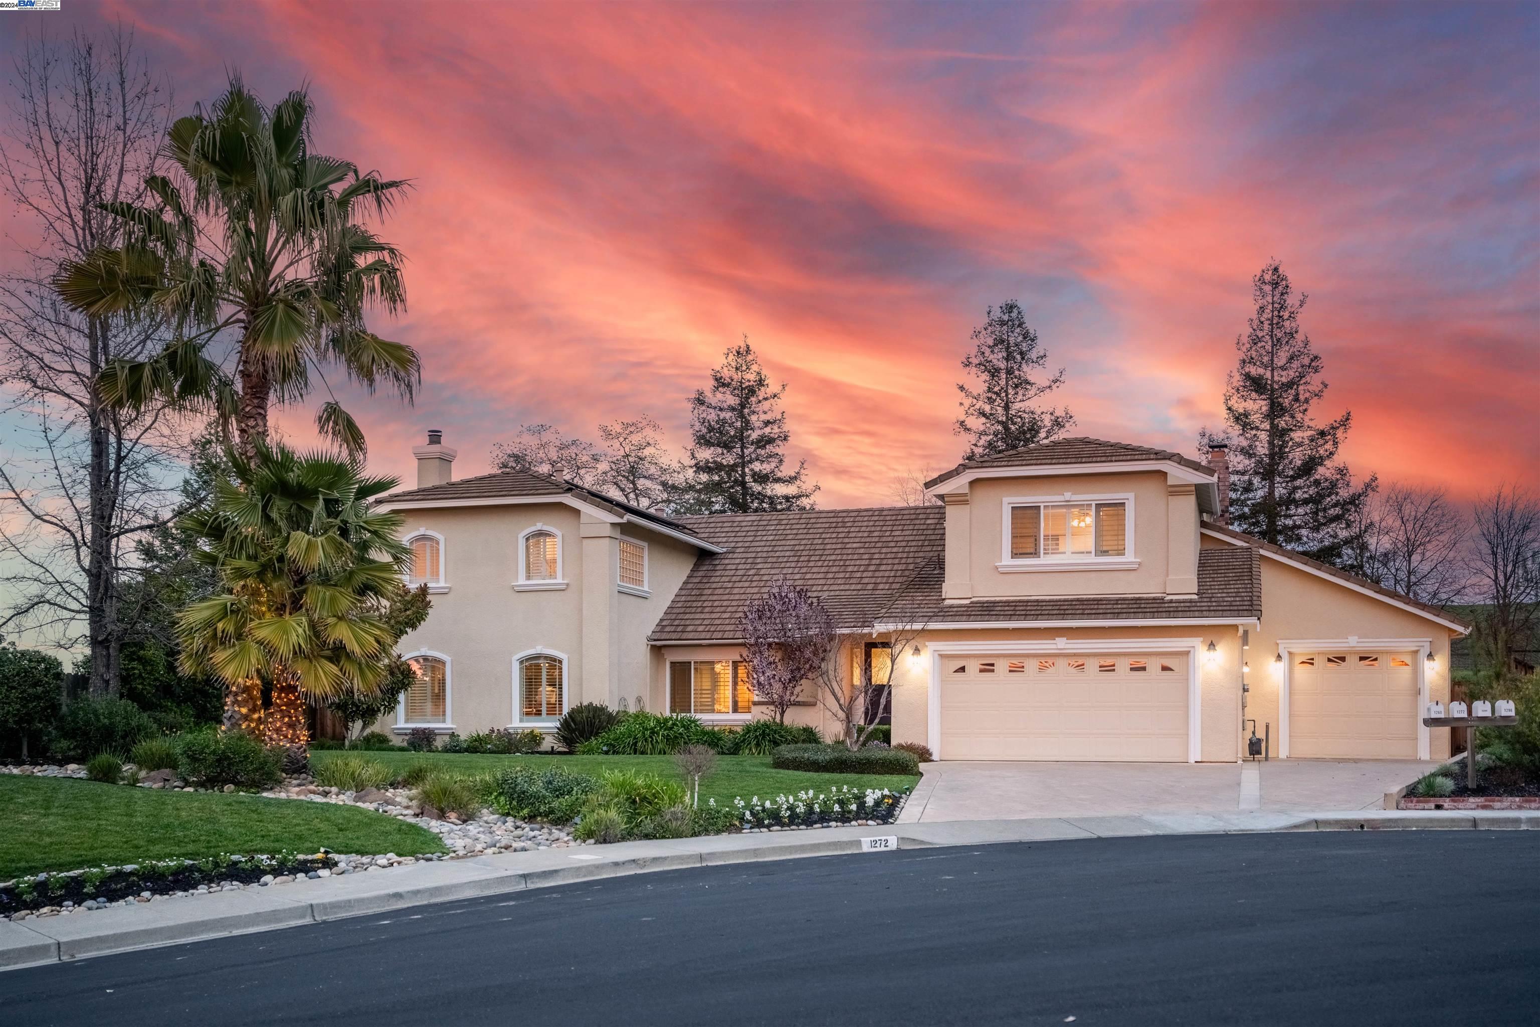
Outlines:
[[975, 599], [942, 604], [941, 507], [808, 510], [685, 517], [725, 551], [702, 556], [675, 594], [654, 642], [730, 642], [750, 599], [778, 577], [821, 596], [842, 628], [873, 622], [1250, 619], [1261, 613], [1261, 571], [1249, 550], [1201, 550], [1198, 594]]

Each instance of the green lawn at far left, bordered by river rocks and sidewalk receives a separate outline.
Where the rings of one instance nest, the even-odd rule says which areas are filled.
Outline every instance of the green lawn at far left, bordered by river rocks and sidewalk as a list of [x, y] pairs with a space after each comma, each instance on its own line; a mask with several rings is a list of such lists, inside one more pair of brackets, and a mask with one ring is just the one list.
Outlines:
[[445, 851], [416, 824], [345, 805], [0, 774], [0, 881], [143, 859]]

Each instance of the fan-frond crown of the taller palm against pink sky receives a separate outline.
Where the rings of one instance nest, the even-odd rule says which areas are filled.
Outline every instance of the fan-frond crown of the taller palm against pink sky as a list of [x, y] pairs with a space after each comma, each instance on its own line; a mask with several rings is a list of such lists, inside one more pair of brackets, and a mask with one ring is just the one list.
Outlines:
[[[126, 243], [66, 262], [55, 288], [95, 317], [156, 311], [174, 326], [152, 359], [102, 373], [105, 402], [213, 403], [249, 460], [268, 439], [271, 403], [302, 399], [311, 371], [325, 385], [323, 365], [411, 400], [417, 351], [365, 325], [368, 306], [405, 309], [402, 256], [359, 220], [388, 214], [408, 183], [311, 152], [311, 114], [305, 91], [270, 111], [231, 77], [206, 112], [199, 105], [166, 134], [182, 182], [151, 176], [152, 205], [103, 205], [123, 220]], [[229, 353], [211, 357], [229, 336]], [[346, 451], [363, 451], [334, 396], [316, 423]]]

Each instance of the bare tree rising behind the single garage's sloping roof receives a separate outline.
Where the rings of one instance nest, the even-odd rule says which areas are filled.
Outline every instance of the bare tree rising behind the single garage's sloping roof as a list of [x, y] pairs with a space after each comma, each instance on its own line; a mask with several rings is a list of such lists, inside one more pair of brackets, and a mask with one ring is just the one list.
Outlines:
[[1465, 591], [1468, 530], [1441, 488], [1392, 483], [1369, 500], [1364, 570], [1420, 602], [1448, 604]]

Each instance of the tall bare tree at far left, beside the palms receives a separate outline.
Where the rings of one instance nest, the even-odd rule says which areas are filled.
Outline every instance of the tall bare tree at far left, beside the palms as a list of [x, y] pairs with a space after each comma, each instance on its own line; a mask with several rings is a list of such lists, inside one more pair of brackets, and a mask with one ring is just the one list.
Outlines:
[[169, 91], [134, 51], [132, 32], [25, 43], [0, 139], [0, 192], [31, 232], [0, 279], [0, 356], [9, 413], [31, 425], [0, 460], [0, 627], [62, 648], [85, 644], [91, 691], [116, 691], [123, 624], [120, 580], [132, 542], [163, 524], [169, 463], [156, 443], [163, 413], [114, 411], [97, 376], [157, 350], [159, 325], [88, 317], [52, 286], [62, 262], [122, 242], [102, 208], [143, 197], [169, 123]]

